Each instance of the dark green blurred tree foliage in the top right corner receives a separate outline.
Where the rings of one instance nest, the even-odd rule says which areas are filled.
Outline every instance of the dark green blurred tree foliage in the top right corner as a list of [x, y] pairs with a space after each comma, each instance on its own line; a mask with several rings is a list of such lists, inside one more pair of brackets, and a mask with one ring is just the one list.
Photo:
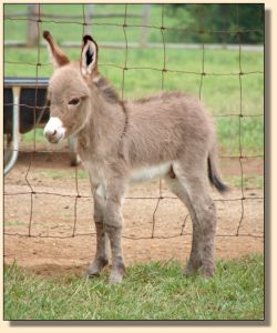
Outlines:
[[[264, 4], [167, 4], [176, 30], [167, 30], [171, 42], [263, 43]], [[182, 29], [181, 29], [182, 28]], [[238, 33], [226, 33], [239, 31]]]

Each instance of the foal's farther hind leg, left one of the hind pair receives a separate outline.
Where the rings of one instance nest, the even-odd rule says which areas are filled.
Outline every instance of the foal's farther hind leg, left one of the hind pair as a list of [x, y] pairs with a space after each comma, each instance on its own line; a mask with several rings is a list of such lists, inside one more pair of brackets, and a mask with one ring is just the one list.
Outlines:
[[193, 209], [193, 205], [191, 203], [191, 199], [187, 194], [187, 190], [182, 183], [178, 178], [172, 178], [172, 176], [166, 176], [165, 181], [172, 192], [178, 196], [181, 201], [184, 202], [186, 208], [188, 209], [192, 222], [193, 222], [193, 243], [192, 243], [192, 251], [189, 255], [189, 260], [187, 262], [187, 265], [185, 268], [184, 274], [185, 275], [194, 275], [197, 270], [202, 265], [202, 255], [203, 255], [203, 249], [202, 249], [202, 231], [195, 214], [195, 211]]

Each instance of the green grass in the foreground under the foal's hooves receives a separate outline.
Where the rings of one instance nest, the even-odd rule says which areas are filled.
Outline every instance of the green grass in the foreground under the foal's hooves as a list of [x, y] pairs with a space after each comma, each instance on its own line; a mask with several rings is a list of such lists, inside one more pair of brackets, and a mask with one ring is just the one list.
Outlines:
[[219, 261], [212, 280], [184, 279], [174, 262], [126, 270], [119, 285], [4, 269], [4, 320], [263, 320], [263, 255]]

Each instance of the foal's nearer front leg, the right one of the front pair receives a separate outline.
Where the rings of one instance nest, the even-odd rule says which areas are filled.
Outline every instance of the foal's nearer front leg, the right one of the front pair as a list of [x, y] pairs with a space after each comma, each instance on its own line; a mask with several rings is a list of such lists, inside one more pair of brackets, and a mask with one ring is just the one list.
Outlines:
[[112, 250], [112, 273], [110, 275], [110, 283], [121, 282], [125, 271], [121, 248], [121, 233], [123, 226], [121, 208], [125, 190], [125, 179], [119, 178], [110, 180], [106, 188], [104, 225]]

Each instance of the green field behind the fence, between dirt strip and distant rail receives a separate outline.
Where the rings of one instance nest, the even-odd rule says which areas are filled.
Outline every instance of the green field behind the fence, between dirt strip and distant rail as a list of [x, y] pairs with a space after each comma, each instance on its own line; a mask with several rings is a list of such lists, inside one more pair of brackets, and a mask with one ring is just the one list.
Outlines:
[[[25, 52], [25, 53], [24, 53]], [[71, 58], [78, 58], [79, 50], [66, 49]], [[143, 95], [150, 95], [162, 90], [162, 72], [163, 64], [161, 59], [161, 50], [137, 50], [132, 49], [129, 52], [127, 67], [137, 68], [157, 68], [158, 70], [127, 70], [124, 73], [124, 85], [122, 85], [123, 70], [114, 65], [124, 65], [124, 50], [104, 49], [100, 53], [100, 70], [110, 81], [117, 88], [120, 92], [124, 92], [124, 98], [135, 99]], [[202, 50], [168, 50], [166, 51], [168, 61], [166, 68], [184, 71], [201, 72], [201, 54]], [[238, 67], [238, 54], [236, 51], [226, 50], [208, 50], [207, 69], [211, 73], [236, 73]], [[248, 53], [249, 70], [259, 70], [263, 63], [263, 53]], [[31, 61], [35, 62], [35, 50], [13, 52], [12, 49], [6, 50], [6, 59], [12, 58], [13, 61]], [[28, 58], [22, 58], [23, 56]], [[246, 57], [247, 54], [245, 54]], [[255, 57], [254, 57], [255, 56]], [[30, 59], [33, 57], [33, 59]], [[48, 62], [47, 50], [41, 52], [43, 57], [42, 63]], [[227, 62], [226, 62], [227, 58]], [[199, 60], [196, 62], [196, 60]], [[256, 59], [256, 60], [255, 60]], [[256, 62], [255, 62], [256, 61]], [[250, 63], [253, 62], [253, 65]], [[255, 64], [256, 63], [256, 67]], [[112, 65], [109, 65], [112, 64]], [[114, 65], [113, 65], [114, 64]], [[250, 68], [252, 67], [252, 68]], [[30, 75], [34, 77], [34, 67], [27, 65], [6, 65], [7, 75]], [[39, 71], [40, 77], [51, 74], [51, 67], [42, 67]], [[202, 100], [207, 107], [208, 112], [215, 118], [217, 128], [219, 147], [222, 154], [239, 155], [239, 122], [242, 152], [244, 155], [260, 155], [264, 153], [264, 79], [261, 74], [246, 74], [242, 78], [242, 113], [240, 113], [240, 94], [239, 80], [237, 75], [205, 75], [202, 83]], [[199, 94], [201, 75], [194, 73], [166, 72], [164, 74], [164, 89], [181, 90]], [[255, 117], [247, 117], [255, 115]], [[30, 134], [30, 138], [33, 138]], [[38, 135], [37, 139], [39, 139]], [[32, 139], [31, 139], [32, 140]]]

